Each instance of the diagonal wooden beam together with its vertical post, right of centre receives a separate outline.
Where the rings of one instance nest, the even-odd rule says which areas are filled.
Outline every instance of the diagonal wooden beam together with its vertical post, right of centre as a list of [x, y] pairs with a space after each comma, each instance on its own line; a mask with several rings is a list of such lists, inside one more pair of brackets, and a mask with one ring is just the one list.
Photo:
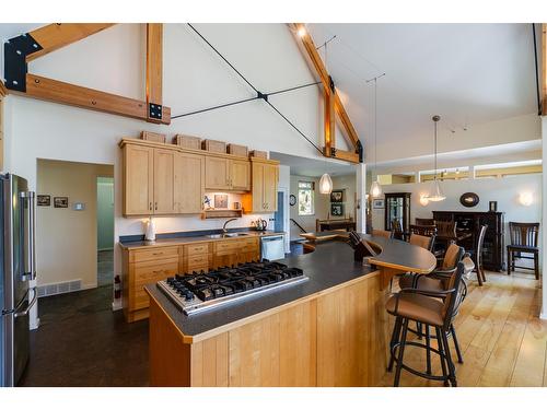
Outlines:
[[[340, 119], [340, 124], [342, 126], [344, 130], [344, 137], [352, 147], [353, 149], [358, 149], [359, 147], [359, 136], [357, 134], [357, 131], [351, 124], [351, 120], [348, 116], [348, 113], [346, 112], [346, 108], [344, 107], [344, 104], [340, 99], [340, 96], [338, 95], [336, 89], [333, 87], [331, 81], [330, 81], [330, 75], [328, 74], [328, 71], [317, 52], [317, 47], [315, 46], [315, 43], [312, 39], [312, 36], [310, 33], [306, 32], [305, 25], [303, 23], [294, 23], [293, 24], [294, 31], [296, 33], [305, 33], [303, 36], [300, 36], [296, 34], [296, 36], [300, 38], [306, 55], [309, 58], [306, 60], [313, 66], [313, 69], [315, 70], [316, 74], [319, 77], [321, 82], [323, 83], [323, 89], [324, 89], [324, 96], [325, 96], [325, 147], [328, 149], [329, 147], [335, 147], [334, 141], [335, 141], [335, 128], [333, 127], [327, 127], [327, 124], [330, 125], [330, 118], [327, 118], [327, 114], [330, 113], [331, 110], [331, 105], [334, 105], [334, 110], [336, 115], [338, 115], [338, 118]], [[334, 96], [330, 98], [330, 96]], [[331, 102], [329, 101], [331, 99]], [[334, 118], [334, 117], [333, 117]], [[329, 142], [331, 141], [331, 142]], [[328, 156], [328, 151], [325, 151], [325, 154]]]

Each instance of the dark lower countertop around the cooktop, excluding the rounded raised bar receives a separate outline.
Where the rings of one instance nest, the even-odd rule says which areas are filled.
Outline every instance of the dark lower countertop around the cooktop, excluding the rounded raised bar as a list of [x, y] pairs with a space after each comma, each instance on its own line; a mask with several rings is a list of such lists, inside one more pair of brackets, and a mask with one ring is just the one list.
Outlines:
[[310, 280], [193, 316], [186, 316], [181, 312], [155, 284], [148, 284], [146, 290], [187, 337], [186, 341], [191, 342], [193, 339], [199, 339], [198, 336], [205, 338], [206, 335], [202, 333], [375, 271], [370, 266], [354, 261], [353, 249], [348, 244], [338, 241], [322, 243], [311, 254], [278, 261], [302, 269]]

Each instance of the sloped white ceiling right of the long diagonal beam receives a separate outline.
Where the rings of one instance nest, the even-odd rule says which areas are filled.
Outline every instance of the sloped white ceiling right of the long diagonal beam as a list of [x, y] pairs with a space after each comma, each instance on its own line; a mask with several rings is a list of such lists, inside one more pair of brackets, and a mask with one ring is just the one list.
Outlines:
[[401, 139], [430, 139], [433, 114], [441, 115], [440, 127], [462, 130], [537, 110], [531, 24], [307, 28], [316, 45], [336, 35], [328, 44], [327, 69], [365, 149], [374, 124], [373, 83], [365, 80], [384, 72], [377, 81], [379, 151]]

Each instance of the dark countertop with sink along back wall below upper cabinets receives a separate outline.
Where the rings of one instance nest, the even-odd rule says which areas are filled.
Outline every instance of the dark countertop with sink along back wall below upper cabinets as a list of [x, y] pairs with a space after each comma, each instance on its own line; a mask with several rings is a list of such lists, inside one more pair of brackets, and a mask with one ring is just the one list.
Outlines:
[[[261, 236], [271, 236], [271, 235], [284, 235], [284, 232], [276, 232], [276, 231], [230, 231], [229, 234], [238, 233], [238, 236], [223, 236], [223, 237], [210, 237], [203, 234], [191, 235], [190, 232], [184, 233], [184, 236], [174, 236], [174, 237], [160, 237], [155, 239], [155, 242], [150, 243], [146, 241], [130, 241], [130, 242], [120, 242], [119, 246], [123, 249], [139, 249], [139, 248], [150, 248], [154, 246], [177, 246], [184, 244], [191, 244], [197, 242], [213, 242], [213, 241], [228, 241], [228, 239], [244, 239], [246, 237], [261, 237]], [[211, 234], [218, 234], [217, 231]], [[243, 235], [244, 234], [244, 235]], [[174, 234], [176, 235], [176, 234]]]

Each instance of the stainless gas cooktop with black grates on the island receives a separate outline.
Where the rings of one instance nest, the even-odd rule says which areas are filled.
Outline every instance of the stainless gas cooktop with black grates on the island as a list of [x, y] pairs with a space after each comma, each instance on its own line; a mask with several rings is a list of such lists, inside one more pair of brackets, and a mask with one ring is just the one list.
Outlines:
[[158, 288], [186, 315], [193, 315], [307, 280], [302, 269], [264, 259], [207, 273], [176, 274], [158, 282]]

